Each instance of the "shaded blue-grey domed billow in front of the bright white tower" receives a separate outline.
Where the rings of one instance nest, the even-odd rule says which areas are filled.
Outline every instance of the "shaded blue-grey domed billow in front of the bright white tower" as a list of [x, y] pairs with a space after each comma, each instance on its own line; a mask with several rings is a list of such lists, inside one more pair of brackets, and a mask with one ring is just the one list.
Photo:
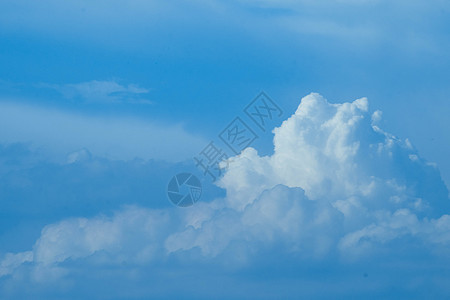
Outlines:
[[[221, 209], [211, 214], [198, 228], [187, 227], [169, 236], [170, 252], [195, 249], [208, 257], [234, 253], [239, 245], [241, 259], [270, 245], [283, 245], [287, 253], [320, 257], [335, 242], [342, 214], [329, 203], [308, 199], [300, 188], [277, 185], [263, 192], [243, 211]], [[258, 249], [261, 248], [261, 249]], [[233, 254], [226, 255], [226, 259]]]

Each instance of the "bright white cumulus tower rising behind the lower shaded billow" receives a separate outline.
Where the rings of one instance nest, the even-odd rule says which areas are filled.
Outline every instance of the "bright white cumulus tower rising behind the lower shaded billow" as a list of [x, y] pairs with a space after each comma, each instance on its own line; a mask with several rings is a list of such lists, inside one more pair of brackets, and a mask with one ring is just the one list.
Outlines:
[[309, 198], [327, 199], [347, 214], [350, 209], [431, 211], [447, 205], [438, 170], [419, 159], [408, 140], [373, 125], [365, 98], [330, 104], [311, 94], [274, 133], [272, 156], [260, 157], [248, 148], [233, 159], [220, 182], [230, 206], [242, 209], [276, 184], [301, 187]]

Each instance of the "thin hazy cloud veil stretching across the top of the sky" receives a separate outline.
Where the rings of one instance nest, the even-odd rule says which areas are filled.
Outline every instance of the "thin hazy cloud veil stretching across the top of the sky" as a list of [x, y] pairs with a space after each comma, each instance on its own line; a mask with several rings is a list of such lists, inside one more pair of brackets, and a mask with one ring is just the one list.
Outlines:
[[[45, 5], [35, 5], [32, 1], [26, 0], [18, 3], [14, 7], [6, 6], [0, 10], [2, 16], [0, 24], [9, 30], [25, 28], [50, 32], [58, 36], [67, 35], [69, 31], [72, 36], [77, 38], [82, 36], [83, 39], [94, 43], [107, 43], [110, 46], [114, 42], [115, 47], [142, 42], [149, 33], [155, 33], [154, 24], [172, 24], [173, 16], [182, 17], [184, 13], [189, 12], [197, 14], [200, 18], [204, 18], [204, 15], [223, 17], [224, 12], [230, 11], [232, 13], [227, 17], [228, 23], [236, 22], [256, 34], [260, 28], [267, 30], [271, 27], [281, 34], [286, 32], [289, 32], [290, 36], [296, 34], [298, 37], [296, 43], [300, 44], [304, 43], [306, 35], [314, 39], [334, 37], [340, 41], [350, 42], [351, 47], [358, 44], [390, 43], [402, 49], [414, 47], [410, 49], [411, 51], [437, 51], [440, 48], [445, 51], [449, 46], [447, 39], [445, 45], [439, 43], [440, 39], [436, 39], [441, 33], [444, 34], [440, 27], [441, 22], [445, 22], [441, 11], [450, 9], [445, 1], [255, 0], [229, 3], [211, 1], [207, 4], [188, 1], [182, 9], [173, 3], [157, 1], [134, 1], [133, 5], [126, 5], [120, 1], [114, 1], [115, 5], [105, 5], [103, 2], [84, 5], [76, 1], [65, 2], [64, 5], [54, 1], [45, 1]], [[56, 13], [50, 16], [47, 9]], [[163, 17], [156, 13], [158, 11], [170, 13]], [[277, 13], [280, 11], [282, 13]], [[25, 17], [15, 18], [14, 15], [18, 12]], [[240, 22], [242, 19], [251, 22], [242, 23]], [[59, 26], [53, 26], [55, 23]], [[75, 27], [72, 24], [80, 26]], [[183, 23], [183, 26], [192, 25], [194, 24]], [[113, 39], [107, 38], [110, 36], [111, 28], [114, 28], [116, 33]], [[133, 34], [129, 34], [130, 31]], [[80, 32], [83, 32], [83, 35], [80, 35]], [[95, 36], [102, 36], [102, 39]], [[117, 41], [121, 42], [116, 43]]]

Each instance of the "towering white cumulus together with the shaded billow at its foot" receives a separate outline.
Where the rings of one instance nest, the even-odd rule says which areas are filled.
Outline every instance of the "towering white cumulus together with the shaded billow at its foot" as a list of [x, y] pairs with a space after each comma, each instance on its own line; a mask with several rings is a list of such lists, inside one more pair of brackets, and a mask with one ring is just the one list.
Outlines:
[[[217, 224], [238, 229], [227, 245], [240, 237], [255, 238], [249, 228], [256, 224], [269, 236], [289, 233], [288, 240], [298, 249], [317, 245], [309, 249], [311, 254], [332, 249], [337, 242], [346, 255], [360, 247], [359, 241], [382, 244], [402, 235], [425, 237], [438, 223], [436, 231], [448, 230], [448, 192], [439, 171], [420, 159], [408, 140], [372, 123], [379, 118], [379, 112], [371, 118], [365, 98], [344, 104], [330, 104], [318, 94], [303, 98], [295, 114], [274, 130], [273, 155], [261, 157], [248, 148], [229, 164], [219, 182], [227, 191], [225, 206], [231, 209], [225, 218], [228, 225], [219, 221], [223, 216], [212, 216], [202, 228], [177, 233], [176, 243], [170, 237], [170, 245], [200, 247], [214, 255], [211, 247], [225, 247], [210, 242], [208, 235], [229, 232]], [[303, 189], [305, 196], [286, 192], [289, 188]], [[284, 230], [277, 228], [283, 224]], [[302, 239], [309, 234], [320, 237], [321, 243]]]

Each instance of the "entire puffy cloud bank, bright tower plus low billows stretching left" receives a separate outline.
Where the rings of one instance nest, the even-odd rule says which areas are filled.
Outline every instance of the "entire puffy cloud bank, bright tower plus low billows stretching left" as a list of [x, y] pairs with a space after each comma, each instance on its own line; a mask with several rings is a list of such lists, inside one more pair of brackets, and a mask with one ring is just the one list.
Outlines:
[[[272, 155], [247, 148], [230, 159], [218, 182], [226, 197], [188, 209], [131, 206], [112, 216], [48, 225], [30, 251], [4, 256], [0, 276], [61, 280], [80, 272], [73, 265], [77, 261], [87, 264], [90, 271], [85, 272], [124, 264], [148, 268], [152, 274], [161, 266], [171, 272], [216, 266], [231, 268], [233, 276], [239, 270], [258, 273], [261, 265], [273, 270], [281, 264], [291, 276], [310, 276], [317, 283], [320, 276], [305, 266], [333, 273], [389, 262], [387, 269], [400, 268], [411, 276], [397, 281], [408, 291], [432, 286], [440, 289], [438, 296], [446, 295], [449, 291], [442, 288], [448, 278], [436, 275], [439, 268], [434, 266], [449, 259], [447, 187], [436, 165], [421, 158], [407, 139], [383, 131], [380, 119], [381, 112], [371, 113], [365, 98], [331, 104], [310, 94], [274, 129]], [[420, 269], [418, 261], [431, 269]], [[280, 268], [265, 280], [285, 276]], [[432, 284], [411, 275], [423, 270], [433, 274], [427, 279]], [[336, 286], [328, 285], [329, 293], [336, 292]], [[380, 285], [373, 283], [367, 290]]]

